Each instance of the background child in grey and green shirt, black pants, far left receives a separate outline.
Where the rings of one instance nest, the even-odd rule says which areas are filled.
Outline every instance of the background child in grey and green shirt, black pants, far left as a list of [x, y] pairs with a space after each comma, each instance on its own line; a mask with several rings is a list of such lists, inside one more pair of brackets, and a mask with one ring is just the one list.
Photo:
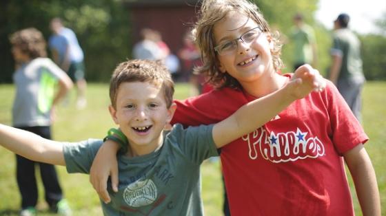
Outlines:
[[[14, 32], [10, 36], [12, 54], [17, 65], [13, 75], [16, 95], [12, 108], [14, 127], [51, 139], [54, 107], [72, 87], [70, 77], [46, 58], [43, 34], [35, 28]], [[58, 84], [59, 90], [54, 94]], [[21, 193], [22, 216], [35, 215], [38, 199], [34, 166], [39, 164], [41, 180], [45, 188], [45, 201], [50, 210], [70, 215], [71, 211], [63, 199], [57, 172], [51, 164], [37, 163], [20, 155], [17, 158], [17, 184]]]

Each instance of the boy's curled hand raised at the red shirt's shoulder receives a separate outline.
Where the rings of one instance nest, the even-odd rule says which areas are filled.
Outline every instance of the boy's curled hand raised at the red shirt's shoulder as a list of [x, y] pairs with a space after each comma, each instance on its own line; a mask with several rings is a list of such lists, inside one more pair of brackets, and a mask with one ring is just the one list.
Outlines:
[[311, 91], [323, 91], [326, 86], [323, 76], [310, 65], [298, 67], [294, 72], [292, 82], [296, 83], [296, 87], [291, 91], [291, 95], [297, 99], [304, 98]]

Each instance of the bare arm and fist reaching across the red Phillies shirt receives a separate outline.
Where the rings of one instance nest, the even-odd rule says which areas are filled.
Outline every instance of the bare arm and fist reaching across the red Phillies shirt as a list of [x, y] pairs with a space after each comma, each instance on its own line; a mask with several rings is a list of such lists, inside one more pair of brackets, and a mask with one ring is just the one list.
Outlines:
[[213, 139], [217, 148], [261, 127], [274, 118], [294, 100], [307, 96], [311, 91], [325, 87], [323, 78], [309, 65], [296, 69], [296, 79], [283, 88], [247, 103], [232, 116], [214, 125]]

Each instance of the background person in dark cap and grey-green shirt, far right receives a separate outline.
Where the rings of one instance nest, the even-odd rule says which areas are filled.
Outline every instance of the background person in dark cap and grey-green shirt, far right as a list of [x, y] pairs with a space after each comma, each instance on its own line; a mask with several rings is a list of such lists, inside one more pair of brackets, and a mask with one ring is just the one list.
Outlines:
[[329, 80], [336, 85], [354, 116], [361, 120], [365, 76], [360, 57], [360, 41], [354, 32], [349, 30], [348, 24], [349, 15], [345, 13], [339, 14], [334, 21]]

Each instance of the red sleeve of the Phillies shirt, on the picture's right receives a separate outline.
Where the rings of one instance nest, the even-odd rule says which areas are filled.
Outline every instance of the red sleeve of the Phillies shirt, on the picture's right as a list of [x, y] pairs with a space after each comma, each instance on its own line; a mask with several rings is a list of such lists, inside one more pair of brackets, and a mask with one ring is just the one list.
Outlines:
[[338, 89], [328, 82], [325, 91], [328, 97], [327, 109], [332, 127], [332, 142], [338, 153], [343, 154], [360, 143], [365, 144], [369, 138]]

